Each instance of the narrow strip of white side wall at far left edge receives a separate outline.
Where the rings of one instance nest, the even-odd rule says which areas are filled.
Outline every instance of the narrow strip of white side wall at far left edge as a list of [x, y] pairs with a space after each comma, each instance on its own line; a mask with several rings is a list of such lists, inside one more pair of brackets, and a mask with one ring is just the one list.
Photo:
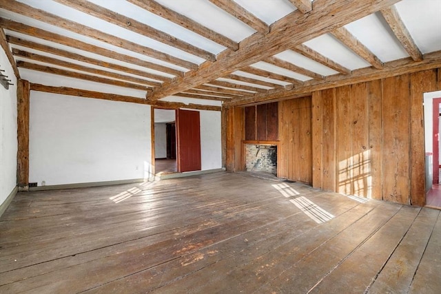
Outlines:
[[0, 85], [0, 204], [17, 186], [17, 79], [3, 49], [0, 69], [14, 85], [6, 90]]

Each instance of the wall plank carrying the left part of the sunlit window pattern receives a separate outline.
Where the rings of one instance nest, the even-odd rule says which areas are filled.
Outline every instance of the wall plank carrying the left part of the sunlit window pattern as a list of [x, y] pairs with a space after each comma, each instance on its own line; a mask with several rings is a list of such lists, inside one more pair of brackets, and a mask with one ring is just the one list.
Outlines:
[[351, 194], [351, 87], [338, 87], [336, 100], [336, 191]]

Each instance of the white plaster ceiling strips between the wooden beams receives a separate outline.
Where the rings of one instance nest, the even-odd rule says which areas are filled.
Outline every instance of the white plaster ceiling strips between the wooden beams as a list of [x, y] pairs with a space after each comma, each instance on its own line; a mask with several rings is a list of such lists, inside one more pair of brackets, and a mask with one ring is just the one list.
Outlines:
[[[168, 21], [167, 19], [164, 19], [152, 12], [144, 10], [143, 8], [129, 3], [128, 1], [88, 1], [90, 3], [95, 3], [96, 5], [102, 6], [103, 8], [107, 8], [109, 10], [122, 14], [125, 17], [130, 17], [132, 19], [135, 19], [136, 21], [139, 21], [146, 25], [150, 25], [150, 27], [152, 28], [161, 30], [162, 32], [174, 36], [176, 39], [185, 41], [191, 45], [196, 46], [197, 48], [201, 48], [207, 52], [211, 52], [212, 54], [217, 55], [223, 53], [225, 50], [228, 50], [224, 45], [220, 45], [215, 41], [211, 41], [206, 37], [201, 36], [200, 34], [196, 34], [196, 32], [192, 32], [192, 30], [184, 28], [183, 26], [173, 23], [172, 21]], [[191, 63], [194, 63], [195, 65], [201, 66], [203, 65], [203, 63], [206, 62], [206, 60], [201, 58], [200, 56], [190, 54], [189, 52], [184, 52], [183, 50], [178, 49], [173, 45], [161, 43], [160, 41], [156, 41], [147, 36], [143, 36], [136, 32], [127, 30], [127, 28], [121, 28], [119, 25], [115, 25], [102, 19], [98, 19], [97, 17], [58, 3], [57, 1], [18, 0], [18, 2], [25, 3], [29, 6], [32, 6], [33, 8], [38, 8], [45, 12], [52, 13], [57, 17], [81, 23], [82, 25], [94, 28], [95, 30], [99, 30], [101, 32], [105, 32], [112, 36], [119, 37], [125, 41], [130, 41], [132, 43], [143, 45], [146, 48], [152, 48], [154, 50], [157, 50], [158, 52], [163, 52], [178, 59], [182, 59], [183, 61], [189, 61]], [[218, 32], [237, 43], [245, 41], [245, 39], [249, 38], [252, 35], [261, 34], [256, 33], [256, 30], [254, 28], [251, 28], [249, 25], [245, 24], [239, 19], [236, 19], [236, 17], [218, 8], [218, 6], [214, 5], [208, 0], [156, 0], [156, 2], [161, 3], [163, 6], [170, 10], [173, 10], [174, 12], [183, 14], [183, 16], [192, 19], [192, 21], [196, 21], [206, 28], [214, 30], [215, 32]], [[284, 17], [289, 17], [291, 14], [299, 12], [289, 0], [234, 0], [234, 3], [238, 4], [248, 12], [251, 12], [252, 14], [254, 14], [254, 16], [261, 19], [267, 25], [276, 23]], [[441, 50], [441, 1], [402, 0], [398, 1], [398, 3], [395, 4], [395, 7], [398, 10], [398, 14], [402, 19], [404, 26], [409, 31], [412, 39], [415, 41], [422, 54]], [[314, 13], [314, 2], [313, 10], [311, 13]], [[185, 68], [181, 65], [176, 65], [174, 63], [163, 61], [152, 56], [148, 56], [148, 54], [141, 54], [138, 52], [127, 50], [124, 46], [122, 46], [121, 48], [116, 45], [111, 45], [110, 43], [106, 43], [105, 41], [93, 39], [92, 37], [84, 36], [83, 34], [78, 34], [75, 32], [71, 32], [70, 30], [60, 28], [57, 25], [51, 25], [32, 17], [26, 17], [21, 13], [10, 12], [6, 9], [0, 8], [0, 17], [4, 19], [12, 19], [13, 21], [24, 23], [25, 25], [30, 25], [35, 28], [47, 30], [49, 32], [54, 32], [62, 36], [68, 36], [72, 39], [96, 45], [100, 48], [112, 50], [113, 52], [136, 57], [137, 59], [140, 59], [142, 61], [149, 61], [158, 65], [164, 65], [174, 70], [180, 70], [181, 72], [191, 71], [191, 69]], [[409, 57], [409, 54], [406, 50], [404, 50], [403, 45], [401, 45], [400, 41], [398, 41], [396, 35], [392, 32], [391, 28], [389, 28], [388, 23], [384, 20], [380, 12], [375, 12], [351, 23], [347, 23], [344, 28], [346, 28], [356, 39], [358, 39], [358, 41], [360, 41], [362, 45], [365, 45], [365, 47], [368, 48], [373, 54], [375, 54], [378, 59], [380, 59], [380, 61], [382, 61], [383, 63]], [[125, 67], [130, 67], [134, 70], [144, 71], [147, 73], [160, 74], [167, 78], [174, 77], [173, 74], [161, 72], [140, 65], [134, 65], [132, 63], [121, 61], [119, 59], [111, 59], [106, 56], [87, 52], [85, 50], [72, 48], [68, 45], [61, 45], [59, 43], [46, 41], [34, 36], [14, 32], [13, 30], [6, 29], [5, 32], [8, 36], [16, 36], [20, 39], [49, 45], [52, 48], [58, 48], [76, 54], [81, 54], [82, 56], [87, 56], [99, 61], [114, 63], [116, 65], [123, 65]], [[296, 36], [293, 36], [293, 38], [295, 37]], [[347, 45], [345, 45], [329, 33], [320, 34], [319, 36], [310, 39], [309, 41], [306, 41], [305, 43], [303, 43], [303, 45], [306, 45], [307, 48], [310, 48], [318, 54], [325, 56], [330, 61], [346, 67], [350, 71], [358, 70], [364, 67], [371, 67], [371, 64], [369, 64], [368, 61], [362, 59], [362, 57], [358, 56], [358, 54], [353, 52]], [[61, 61], [77, 63], [79, 65], [93, 67], [100, 70], [107, 70], [108, 72], [125, 74], [127, 76], [145, 79], [146, 81], [157, 81], [154, 79], [145, 78], [143, 76], [136, 76], [130, 73], [119, 72], [118, 70], [112, 70], [110, 68], [101, 67], [99, 65], [91, 65], [83, 63], [81, 61], [70, 60], [66, 57], [57, 56], [47, 52], [41, 52], [32, 48], [25, 48], [19, 45], [10, 44], [10, 48], [16, 48], [43, 56], [50, 56]], [[306, 70], [315, 72], [316, 74], [320, 74], [322, 76], [334, 76], [340, 74], [340, 72], [337, 72], [331, 67], [318, 63], [317, 61], [314, 61], [307, 56], [299, 54], [298, 52], [294, 52], [293, 50], [282, 50], [280, 52], [275, 52], [274, 57], [281, 59], [282, 61], [292, 63], [293, 65], [296, 65], [298, 67], [303, 67]], [[30, 61], [23, 57], [16, 57], [16, 60], [29, 61], [36, 64], [44, 64], [39, 61]], [[62, 68], [60, 65], [45, 65]], [[305, 76], [304, 74], [300, 74], [292, 70], [287, 70], [285, 68], [263, 61], [258, 61], [249, 65], [260, 70], [265, 70], [267, 72], [280, 74], [289, 78], [295, 78], [300, 83], [314, 80], [314, 78], [312, 78], [311, 76]], [[21, 69], [21, 71], [23, 71], [23, 69]], [[72, 70], [72, 72], [74, 72], [74, 70]], [[78, 72], [78, 70], [76, 70], [76, 72]], [[237, 85], [251, 85], [253, 87], [260, 87], [267, 90], [270, 90], [271, 87], [268, 87], [267, 85], [258, 85], [258, 81], [265, 81], [278, 85], [289, 85], [287, 81], [267, 78], [265, 76], [256, 76], [256, 74], [249, 74], [247, 72], [241, 71], [240, 69], [234, 69], [230, 73], [237, 74], [238, 76], [243, 76], [245, 78], [253, 78], [256, 80], [256, 84], [231, 80], [229, 78], [224, 78], [221, 75], [218, 76], [218, 78], [216, 79], [218, 81], [228, 81]], [[206, 81], [205, 83], [203, 83], [203, 85], [211, 84], [209, 83], [209, 81]], [[218, 85], [216, 85], [215, 87], [218, 87], [220, 89], [226, 88]], [[243, 90], [243, 92], [249, 91]], [[182, 98], [183, 97], [180, 97], [178, 96], [178, 94], [176, 94], [175, 98], [164, 98], [163, 100], [189, 101], [188, 97], [185, 99]], [[220, 105], [219, 101], [204, 101], [202, 99], [194, 99], [191, 102], [201, 103], [201, 101], [203, 104]]]

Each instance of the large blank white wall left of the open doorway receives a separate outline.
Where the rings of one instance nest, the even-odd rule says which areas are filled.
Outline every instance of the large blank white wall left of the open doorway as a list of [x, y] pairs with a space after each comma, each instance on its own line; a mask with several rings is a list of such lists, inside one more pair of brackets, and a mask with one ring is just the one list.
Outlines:
[[30, 182], [62, 185], [144, 178], [150, 106], [31, 92]]

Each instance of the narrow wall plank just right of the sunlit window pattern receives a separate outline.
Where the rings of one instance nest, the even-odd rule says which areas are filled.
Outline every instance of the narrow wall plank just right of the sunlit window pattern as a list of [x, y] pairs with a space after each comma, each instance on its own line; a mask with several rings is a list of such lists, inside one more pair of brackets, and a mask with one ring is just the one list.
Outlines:
[[369, 198], [382, 199], [382, 80], [367, 83], [369, 101]]

